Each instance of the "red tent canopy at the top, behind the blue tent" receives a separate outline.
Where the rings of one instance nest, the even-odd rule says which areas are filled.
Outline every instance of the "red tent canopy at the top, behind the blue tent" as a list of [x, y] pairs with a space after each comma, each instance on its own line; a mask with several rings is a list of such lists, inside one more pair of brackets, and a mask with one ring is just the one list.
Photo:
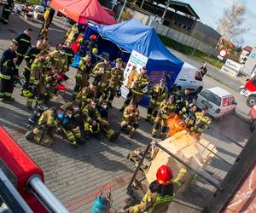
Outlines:
[[104, 25], [117, 23], [97, 0], [51, 0], [50, 6], [80, 24], [87, 20]]

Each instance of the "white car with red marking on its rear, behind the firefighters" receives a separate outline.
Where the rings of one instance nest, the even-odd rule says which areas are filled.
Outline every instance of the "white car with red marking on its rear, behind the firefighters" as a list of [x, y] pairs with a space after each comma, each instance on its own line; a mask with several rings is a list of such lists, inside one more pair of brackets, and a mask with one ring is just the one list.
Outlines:
[[195, 100], [195, 104], [201, 109], [208, 107], [208, 113], [212, 118], [222, 118], [231, 112], [236, 112], [236, 101], [233, 95], [220, 87], [204, 89]]

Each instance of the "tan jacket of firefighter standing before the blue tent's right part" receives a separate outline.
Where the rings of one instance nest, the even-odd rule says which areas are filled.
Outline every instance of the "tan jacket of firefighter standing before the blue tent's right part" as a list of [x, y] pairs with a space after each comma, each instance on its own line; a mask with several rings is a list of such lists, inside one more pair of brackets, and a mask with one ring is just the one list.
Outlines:
[[163, 89], [160, 88], [160, 84], [154, 84], [154, 86], [150, 89], [151, 99], [150, 102], [160, 106], [160, 103], [166, 100], [168, 95], [168, 89], [164, 87]]

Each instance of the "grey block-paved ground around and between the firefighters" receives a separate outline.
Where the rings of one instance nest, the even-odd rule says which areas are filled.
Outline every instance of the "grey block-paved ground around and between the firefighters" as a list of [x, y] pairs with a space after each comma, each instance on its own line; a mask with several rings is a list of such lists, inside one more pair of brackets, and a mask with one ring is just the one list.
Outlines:
[[[61, 19], [55, 19], [49, 30], [49, 42], [53, 47], [61, 41], [65, 33], [61, 25]], [[19, 16], [12, 16], [8, 26], [0, 23], [0, 49], [8, 48], [9, 41], [28, 26], [33, 29], [32, 40], [35, 41], [40, 28], [39, 21], [30, 22]], [[70, 89], [74, 86], [74, 73], [73, 68], [68, 72]], [[205, 84], [206, 88], [223, 87], [236, 97], [239, 116], [229, 115], [219, 122], [213, 121], [212, 128], [205, 133], [206, 139], [218, 147], [218, 154], [233, 164], [241, 152], [241, 147], [236, 143], [244, 146], [251, 135], [248, 124], [241, 119], [241, 117], [246, 118], [248, 108], [243, 98], [230, 87], [209, 77], [205, 78]], [[71, 99], [71, 93], [72, 90], [69, 90], [65, 94], [67, 100]], [[122, 98], [115, 99], [113, 110], [110, 111], [110, 124], [115, 130], [119, 129], [122, 114], [118, 109], [123, 101]], [[51, 105], [59, 106], [60, 104], [55, 101], [51, 102]], [[140, 111], [145, 118], [146, 109], [140, 107]], [[24, 138], [27, 118], [30, 114], [31, 112], [26, 109], [26, 99], [20, 96], [20, 89], [15, 89], [15, 102], [0, 103], [0, 124], [44, 170], [46, 185], [61, 199], [68, 210], [89, 212], [96, 193], [106, 183], [113, 186], [113, 206], [114, 209], [119, 210], [123, 206], [122, 201], [126, 197], [125, 189], [135, 170], [135, 165], [127, 160], [126, 156], [131, 150], [143, 147], [151, 140], [152, 126], [142, 120], [134, 139], [129, 139], [127, 135], [120, 135], [118, 141], [110, 143], [105, 137], [100, 136], [90, 139], [84, 146], [77, 148], [70, 147], [57, 136], [54, 139], [54, 145], [48, 148], [26, 141]], [[206, 170], [212, 176], [222, 180], [230, 167], [218, 158], [212, 158]], [[193, 183], [189, 191], [183, 193], [180, 198], [190, 204], [203, 206], [213, 191], [214, 187], [200, 179], [199, 182]]]

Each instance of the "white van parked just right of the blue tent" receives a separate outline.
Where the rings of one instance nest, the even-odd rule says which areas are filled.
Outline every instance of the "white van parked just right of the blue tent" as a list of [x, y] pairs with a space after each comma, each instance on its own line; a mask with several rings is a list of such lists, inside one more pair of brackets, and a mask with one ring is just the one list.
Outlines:
[[195, 66], [184, 62], [181, 71], [178, 73], [175, 83], [183, 91], [186, 88], [196, 95], [201, 92], [204, 86], [201, 72]]

